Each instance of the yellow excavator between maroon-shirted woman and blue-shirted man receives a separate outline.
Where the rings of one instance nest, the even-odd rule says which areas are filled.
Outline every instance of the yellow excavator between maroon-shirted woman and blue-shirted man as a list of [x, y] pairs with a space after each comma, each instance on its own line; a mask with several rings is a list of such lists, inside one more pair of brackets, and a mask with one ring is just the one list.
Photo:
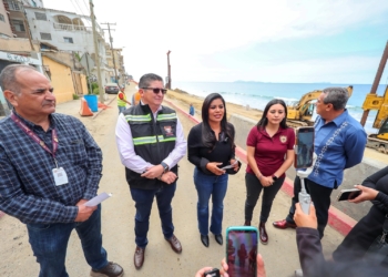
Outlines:
[[[353, 94], [353, 85], [347, 88], [349, 98]], [[290, 126], [313, 126], [312, 120], [315, 110], [315, 101], [319, 98], [323, 91], [315, 90], [304, 94], [299, 101], [287, 106], [287, 123]]]

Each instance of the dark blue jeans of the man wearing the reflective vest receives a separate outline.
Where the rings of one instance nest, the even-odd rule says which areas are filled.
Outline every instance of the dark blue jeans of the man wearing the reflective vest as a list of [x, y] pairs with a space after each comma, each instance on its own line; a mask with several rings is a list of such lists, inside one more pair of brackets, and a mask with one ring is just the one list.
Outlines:
[[145, 248], [145, 246], [149, 244], [146, 234], [149, 233], [150, 228], [150, 215], [154, 197], [156, 197], [164, 238], [170, 239], [174, 235], [173, 208], [171, 206], [171, 202], [174, 197], [175, 189], [176, 182], [157, 189], [130, 188], [132, 199], [135, 202], [136, 207], [135, 243], [139, 247]]

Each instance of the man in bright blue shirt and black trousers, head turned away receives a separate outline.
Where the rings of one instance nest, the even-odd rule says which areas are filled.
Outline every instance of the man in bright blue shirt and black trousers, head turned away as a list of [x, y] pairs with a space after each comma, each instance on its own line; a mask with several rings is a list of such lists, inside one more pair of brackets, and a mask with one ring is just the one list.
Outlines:
[[[306, 191], [317, 209], [320, 238], [328, 220], [330, 195], [344, 179], [344, 170], [363, 161], [367, 134], [361, 124], [346, 110], [349, 93], [344, 88], [323, 90], [316, 103], [314, 152], [317, 155], [313, 172], [305, 178]], [[300, 178], [294, 181], [294, 197], [289, 213], [283, 220], [274, 222], [275, 228], [295, 228], [295, 203], [299, 202]]]

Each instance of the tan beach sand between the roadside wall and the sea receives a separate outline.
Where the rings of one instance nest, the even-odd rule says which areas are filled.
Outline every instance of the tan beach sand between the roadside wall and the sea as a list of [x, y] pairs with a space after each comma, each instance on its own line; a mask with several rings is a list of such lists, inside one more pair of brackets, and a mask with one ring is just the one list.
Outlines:
[[[202, 103], [204, 101], [203, 98], [190, 94], [188, 92], [184, 92], [182, 90], [169, 90], [166, 94], [166, 99], [174, 101], [174, 103], [180, 106], [182, 110], [186, 111], [188, 113], [190, 103], [193, 103], [195, 109], [195, 117], [200, 121], [201, 119], [201, 109]], [[246, 106], [237, 105], [234, 103], [226, 102], [226, 112], [227, 117], [231, 116], [231, 114], [238, 114], [241, 116], [245, 116], [248, 119], [252, 119], [256, 122], [259, 121], [262, 117], [263, 112], [257, 109], [247, 109]], [[245, 145], [238, 145], [243, 148], [245, 148]], [[365, 148], [364, 155], [368, 158], [375, 160], [377, 162], [382, 162], [385, 165], [388, 165], [388, 155], [377, 152], [372, 148]]]

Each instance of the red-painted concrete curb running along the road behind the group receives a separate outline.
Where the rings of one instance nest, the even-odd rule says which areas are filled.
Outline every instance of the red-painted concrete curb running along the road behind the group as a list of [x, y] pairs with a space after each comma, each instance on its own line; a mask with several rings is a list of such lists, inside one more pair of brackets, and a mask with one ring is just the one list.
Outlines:
[[[183, 115], [187, 116], [191, 121], [194, 123], [200, 123], [200, 121], [192, 115], [190, 115], [186, 111], [182, 110], [181, 107], [176, 106], [173, 102], [169, 100], [164, 100], [170, 105], [174, 106], [174, 109], [178, 112], [181, 112]], [[247, 163], [246, 160], [246, 151], [242, 147], [236, 147], [236, 155], [239, 157], [241, 161], [244, 163]], [[294, 196], [294, 182], [289, 178], [286, 178], [283, 183], [282, 191], [289, 195], [290, 197]], [[338, 208], [330, 206], [329, 208], [329, 218], [328, 224], [331, 226], [331, 228], [338, 230], [340, 234], [346, 236], [350, 229], [357, 224], [355, 219], [339, 211]]]

